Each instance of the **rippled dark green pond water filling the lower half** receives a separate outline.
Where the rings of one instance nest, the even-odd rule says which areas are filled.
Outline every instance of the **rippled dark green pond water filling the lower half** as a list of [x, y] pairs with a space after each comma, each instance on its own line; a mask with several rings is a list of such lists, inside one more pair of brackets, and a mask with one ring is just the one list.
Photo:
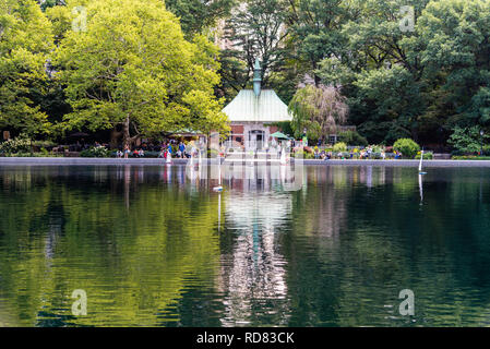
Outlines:
[[0, 167], [0, 325], [490, 324], [490, 169], [254, 170]]

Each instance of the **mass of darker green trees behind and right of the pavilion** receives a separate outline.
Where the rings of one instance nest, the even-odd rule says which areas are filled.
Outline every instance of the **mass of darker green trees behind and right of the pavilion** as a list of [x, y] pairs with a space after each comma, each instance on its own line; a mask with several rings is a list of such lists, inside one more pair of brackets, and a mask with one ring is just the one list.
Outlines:
[[[349, 107], [346, 123], [356, 125], [369, 143], [391, 145], [409, 137], [425, 145], [443, 145], [456, 127], [489, 128], [488, 1], [275, 2], [274, 11], [250, 14], [250, 23], [256, 32], [268, 33], [263, 35], [264, 43], [280, 39], [280, 45], [268, 48], [274, 57], [283, 58], [282, 63], [267, 64], [265, 77], [287, 104], [308, 73], [316, 86], [340, 92]], [[242, 4], [256, 8], [253, 0]], [[411, 11], [402, 11], [407, 5], [413, 17]], [[282, 19], [278, 32], [267, 32], [271, 19]], [[239, 23], [232, 23], [237, 31]], [[247, 76], [251, 73], [253, 50], [246, 50], [251, 41], [232, 44], [238, 61], [234, 68], [224, 67], [228, 69], [225, 81], [242, 76], [236, 74], [239, 67]], [[268, 53], [259, 53], [268, 60]], [[240, 55], [244, 56], [240, 59]], [[226, 93], [229, 99], [236, 92]]]

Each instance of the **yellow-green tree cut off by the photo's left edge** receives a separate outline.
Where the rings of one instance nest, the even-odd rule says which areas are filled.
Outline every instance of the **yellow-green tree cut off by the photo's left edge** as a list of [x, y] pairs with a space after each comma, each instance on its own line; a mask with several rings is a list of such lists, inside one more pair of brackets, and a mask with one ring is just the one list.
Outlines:
[[34, 0], [0, 2], [0, 128], [29, 136], [49, 131], [36, 100], [46, 93], [52, 48], [50, 23]]

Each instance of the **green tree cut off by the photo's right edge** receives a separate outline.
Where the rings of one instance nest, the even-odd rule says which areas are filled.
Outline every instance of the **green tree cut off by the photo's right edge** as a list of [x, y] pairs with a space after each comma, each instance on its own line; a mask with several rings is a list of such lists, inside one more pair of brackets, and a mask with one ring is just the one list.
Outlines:
[[490, 122], [490, 3], [431, 1], [419, 19], [428, 75], [441, 77], [453, 104], [451, 123]]

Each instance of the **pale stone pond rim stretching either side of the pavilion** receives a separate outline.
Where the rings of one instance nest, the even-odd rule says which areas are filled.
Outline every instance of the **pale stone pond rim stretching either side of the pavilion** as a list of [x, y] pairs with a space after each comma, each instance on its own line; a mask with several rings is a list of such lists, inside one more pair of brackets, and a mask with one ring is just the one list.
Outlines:
[[[172, 165], [186, 165], [188, 159], [172, 159]], [[313, 166], [384, 166], [418, 167], [419, 160], [303, 160]], [[0, 166], [116, 166], [167, 165], [165, 159], [67, 158], [67, 157], [0, 157]], [[490, 167], [490, 160], [425, 160], [425, 167]]]

